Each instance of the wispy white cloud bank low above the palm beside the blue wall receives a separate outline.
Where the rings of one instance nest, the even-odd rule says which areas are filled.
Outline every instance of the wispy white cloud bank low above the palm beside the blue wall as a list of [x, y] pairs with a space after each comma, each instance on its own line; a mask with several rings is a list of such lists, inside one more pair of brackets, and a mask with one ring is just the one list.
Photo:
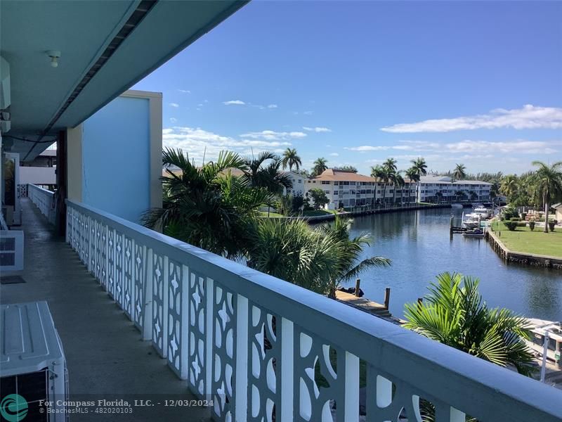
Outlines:
[[235, 139], [209, 132], [199, 127], [171, 127], [162, 130], [162, 144], [168, 148], [181, 148], [189, 154], [190, 159], [195, 159], [200, 165], [205, 155], [205, 160], [215, 160], [218, 153], [223, 150], [235, 151], [247, 155], [261, 151], [281, 153], [292, 144], [287, 141], [268, 139]]

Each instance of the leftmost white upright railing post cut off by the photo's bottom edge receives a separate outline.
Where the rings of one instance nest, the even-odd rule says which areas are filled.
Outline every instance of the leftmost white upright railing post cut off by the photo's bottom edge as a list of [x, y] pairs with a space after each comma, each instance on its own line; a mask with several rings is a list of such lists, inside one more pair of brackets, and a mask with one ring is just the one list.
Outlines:
[[[236, 295], [235, 421], [245, 422], [248, 409], [248, 299]], [[289, 419], [280, 419], [289, 421]]]

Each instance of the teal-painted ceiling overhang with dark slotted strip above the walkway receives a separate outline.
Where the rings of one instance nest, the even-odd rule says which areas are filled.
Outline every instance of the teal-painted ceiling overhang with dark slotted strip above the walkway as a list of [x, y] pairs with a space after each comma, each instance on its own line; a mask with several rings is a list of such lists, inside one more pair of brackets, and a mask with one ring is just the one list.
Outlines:
[[[58, 131], [76, 127], [244, 4], [0, 1], [0, 54], [11, 74], [5, 143], [32, 159]], [[61, 52], [57, 68], [49, 50]]]

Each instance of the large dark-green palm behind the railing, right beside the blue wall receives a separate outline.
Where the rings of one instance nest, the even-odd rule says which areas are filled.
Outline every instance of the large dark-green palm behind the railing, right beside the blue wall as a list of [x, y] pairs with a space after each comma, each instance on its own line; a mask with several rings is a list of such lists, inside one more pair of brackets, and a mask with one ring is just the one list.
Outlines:
[[162, 208], [145, 212], [143, 224], [218, 255], [240, 255], [259, 207], [274, 200], [266, 189], [252, 188], [247, 180], [230, 174], [229, 169], [246, 171], [244, 160], [236, 153], [221, 152], [216, 162], [197, 168], [180, 149], [166, 148], [162, 162], [166, 167]]

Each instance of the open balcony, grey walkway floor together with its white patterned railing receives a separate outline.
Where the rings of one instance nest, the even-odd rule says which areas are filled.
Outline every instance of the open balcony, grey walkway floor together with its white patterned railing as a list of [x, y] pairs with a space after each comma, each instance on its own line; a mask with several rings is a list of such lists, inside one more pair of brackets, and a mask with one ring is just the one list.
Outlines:
[[72, 392], [162, 388], [216, 421], [421, 421], [420, 398], [438, 422], [561, 420], [561, 392], [508, 369], [70, 200], [69, 248], [32, 207], [27, 283], [2, 302], [49, 301]]

